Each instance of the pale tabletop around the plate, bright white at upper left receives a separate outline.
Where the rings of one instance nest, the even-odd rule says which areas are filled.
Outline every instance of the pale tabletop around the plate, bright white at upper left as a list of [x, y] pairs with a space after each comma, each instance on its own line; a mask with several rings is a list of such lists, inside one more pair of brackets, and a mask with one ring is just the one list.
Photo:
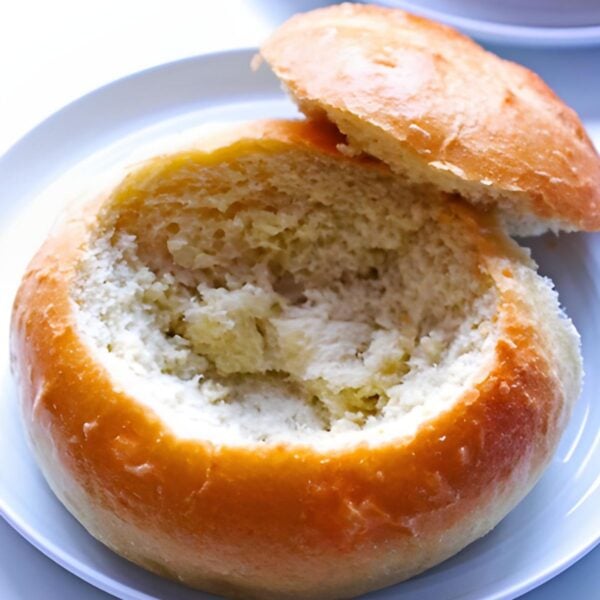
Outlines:
[[[52, 112], [109, 81], [186, 56], [256, 46], [286, 16], [320, 3], [0, 0], [0, 155]], [[600, 73], [600, 51], [596, 58]], [[593, 101], [600, 105], [600, 97]], [[0, 519], [0, 599], [41, 598], [110, 596], [54, 564]], [[523, 598], [600, 599], [600, 548]]]

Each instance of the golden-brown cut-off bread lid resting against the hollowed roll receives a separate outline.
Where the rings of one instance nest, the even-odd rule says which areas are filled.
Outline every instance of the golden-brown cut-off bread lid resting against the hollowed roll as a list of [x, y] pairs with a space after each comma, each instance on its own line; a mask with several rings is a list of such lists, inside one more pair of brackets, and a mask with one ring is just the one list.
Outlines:
[[514, 234], [600, 229], [600, 158], [576, 113], [537, 75], [453, 29], [343, 4], [293, 17], [261, 54], [350, 151], [497, 206]]

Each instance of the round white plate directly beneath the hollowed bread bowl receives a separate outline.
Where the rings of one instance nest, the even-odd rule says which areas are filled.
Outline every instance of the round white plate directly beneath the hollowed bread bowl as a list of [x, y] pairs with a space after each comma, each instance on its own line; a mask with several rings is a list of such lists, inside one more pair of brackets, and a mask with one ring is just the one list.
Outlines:
[[[279, 84], [252, 73], [252, 51], [180, 61], [117, 81], [50, 117], [0, 158], [0, 512], [50, 558], [93, 585], [128, 599], [199, 600], [105, 549], [47, 488], [26, 446], [5, 351], [20, 273], [58, 207], [41, 192], [69, 172], [87, 177], [140, 144], [206, 122], [295, 114]], [[597, 125], [597, 124], [596, 124]], [[60, 185], [60, 182], [53, 185]], [[41, 195], [40, 195], [41, 194]], [[488, 536], [415, 579], [372, 599], [513, 598], [565, 569], [600, 538], [600, 237], [533, 243], [583, 337], [585, 390], [560, 448], [534, 491]]]

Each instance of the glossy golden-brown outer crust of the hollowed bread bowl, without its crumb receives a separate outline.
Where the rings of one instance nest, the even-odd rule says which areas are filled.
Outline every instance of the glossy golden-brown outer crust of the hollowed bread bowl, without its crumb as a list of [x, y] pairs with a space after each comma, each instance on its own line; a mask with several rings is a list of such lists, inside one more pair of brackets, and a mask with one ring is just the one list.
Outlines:
[[[206, 164], [298, 145], [332, 154], [338, 141], [300, 123], [257, 124], [237, 136], [185, 156]], [[44, 475], [119, 554], [230, 597], [346, 598], [454, 554], [537, 480], [578, 393], [576, 334], [493, 224], [456, 209], [500, 291], [502, 334], [494, 362], [450, 411], [387, 445], [216, 447], [175, 437], [115, 386], [80, 337], [70, 285], [105, 197], [64, 219], [32, 261], [11, 347]]]

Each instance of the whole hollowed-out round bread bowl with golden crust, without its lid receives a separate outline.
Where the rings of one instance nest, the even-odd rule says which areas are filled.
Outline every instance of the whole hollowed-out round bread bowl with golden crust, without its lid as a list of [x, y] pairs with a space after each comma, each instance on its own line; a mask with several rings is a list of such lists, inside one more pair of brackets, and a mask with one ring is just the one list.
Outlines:
[[96, 538], [231, 597], [347, 598], [488, 532], [581, 380], [491, 216], [263, 122], [72, 209], [18, 293], [48, 482]]

